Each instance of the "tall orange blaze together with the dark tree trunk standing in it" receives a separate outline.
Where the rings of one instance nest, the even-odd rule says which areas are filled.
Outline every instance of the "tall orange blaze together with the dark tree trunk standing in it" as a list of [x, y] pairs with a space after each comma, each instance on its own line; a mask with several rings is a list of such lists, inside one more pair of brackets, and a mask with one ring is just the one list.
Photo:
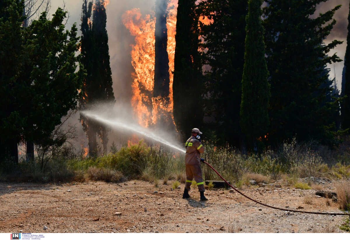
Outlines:
[[174, 130], [173, 74], [176, 0], [156, 1], [156, 13], [142, 16], [126, 11], [123, 24], [135, 36], [131, 58], [134, 68], [131, 104], [140, 125], [160, 124]]

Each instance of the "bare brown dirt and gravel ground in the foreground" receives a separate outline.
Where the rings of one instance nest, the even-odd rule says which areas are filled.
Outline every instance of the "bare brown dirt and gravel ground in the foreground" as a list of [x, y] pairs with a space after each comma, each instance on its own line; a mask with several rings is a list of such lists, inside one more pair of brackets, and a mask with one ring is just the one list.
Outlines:
[[[172, 182], [159, 187], [144, 181], [0, 183], [0, 232], [341, 232], [336, 225], [343, 216], [275, 210], [229, 190], [207, 190], [209, 201], [200, 202], [195, 189], [186, 200], [182, 199], [184, 184], [172, 190]], [[322, 188], [334, 191], [334, 182]], [[337, 203], [316, 196], [316, 190], [252, 186], [242, 191], [280, 208], [341, 212]]]

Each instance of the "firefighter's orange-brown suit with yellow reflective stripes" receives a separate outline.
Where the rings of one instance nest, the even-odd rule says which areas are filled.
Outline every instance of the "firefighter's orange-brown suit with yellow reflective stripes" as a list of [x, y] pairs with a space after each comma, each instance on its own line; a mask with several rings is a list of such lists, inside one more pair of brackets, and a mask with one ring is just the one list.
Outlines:
[[197, 182], [198, 191], [204, 192], [204, 182], [201, 168], [201, 153], [204, 152], [204, 147], [200, 141], [191, 136], [185, 143], [186, 146], [186, 184], [187, 190], [191, 189], [193, 178]]

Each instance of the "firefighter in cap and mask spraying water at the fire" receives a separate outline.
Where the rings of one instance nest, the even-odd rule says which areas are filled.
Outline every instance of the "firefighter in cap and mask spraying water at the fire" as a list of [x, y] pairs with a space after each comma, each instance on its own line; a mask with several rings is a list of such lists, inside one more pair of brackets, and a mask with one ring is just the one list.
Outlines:
[[194, 178], [197, 182], [198, 191], [201, 194], [201, 201], [208, 201], [208, 199], [204, 196], [204, 182], [201, 168], [201, 161], [204, 162], [204, 159], [202, 159], [200, 155], [204, 152], [204, 147], [201, 143], [200, 134], [202, 134], [202, 132], [198, 128], [192, 129], [191, 137], [185, 143], [185, 165], [187, 180], [182, 198], [190, 197], [188, 191], [191, 189], [192, 180]]

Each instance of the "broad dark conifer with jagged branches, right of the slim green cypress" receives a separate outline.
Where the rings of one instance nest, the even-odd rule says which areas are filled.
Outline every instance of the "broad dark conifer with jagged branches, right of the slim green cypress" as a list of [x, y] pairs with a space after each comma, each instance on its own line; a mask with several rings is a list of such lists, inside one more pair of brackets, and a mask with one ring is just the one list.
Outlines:
[[295, 134], [299, 140], [327, 144], [335, 140], [334, 116], [339, 104], [334, 98], [325, 101], [332, 91], [325, 66], [341, 61], [336, 54], [327, 55], [341, 42], [323, 44], [323, 40], [336, 22], [332, 17], [340, 5], [311, 19], [316, 6], [324, 1], [267, 0], [263, 9], [271, 77], [269, 141], [274, 143]]

